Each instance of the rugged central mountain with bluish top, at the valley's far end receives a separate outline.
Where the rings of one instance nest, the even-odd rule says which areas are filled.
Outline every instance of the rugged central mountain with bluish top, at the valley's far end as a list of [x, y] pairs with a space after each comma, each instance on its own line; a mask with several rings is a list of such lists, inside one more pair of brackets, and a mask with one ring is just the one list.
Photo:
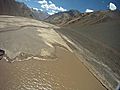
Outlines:
[[46, 18], [44, 21], [56, 24], [56, 25], [63, 25], [75, 18], [78, 18], [82, 14], [78, 10], [69, 10], [65, 12], [58, 12], [55, 13], [48, 18]]

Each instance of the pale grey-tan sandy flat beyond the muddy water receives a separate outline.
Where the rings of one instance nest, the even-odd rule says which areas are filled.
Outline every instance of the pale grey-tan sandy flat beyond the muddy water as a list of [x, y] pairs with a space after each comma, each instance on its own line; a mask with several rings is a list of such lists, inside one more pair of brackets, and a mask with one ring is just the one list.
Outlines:
[[0, 48], [15, 60], [20, 56], [55, 58], [55, 46], [69, 47], [54, 28], [58, 27], [33, 19], [0, 16]]

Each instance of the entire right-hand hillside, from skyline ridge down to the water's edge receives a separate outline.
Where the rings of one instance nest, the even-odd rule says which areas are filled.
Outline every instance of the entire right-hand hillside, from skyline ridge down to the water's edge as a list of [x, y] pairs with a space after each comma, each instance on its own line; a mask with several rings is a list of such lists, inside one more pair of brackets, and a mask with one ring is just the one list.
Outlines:
[[[57, 30], [108, 90], [120, 84], [120, 11], [83, 13]], [[70, 41], [71, 40], [71, 41]], [[89, 67], [90, 65], [90, 67]], [[92, 68], [91, 68], [92, 66]], [[94, 70], [97, 73], [94, 73]], [[116, 89], [116, 87], [118, 89]]]

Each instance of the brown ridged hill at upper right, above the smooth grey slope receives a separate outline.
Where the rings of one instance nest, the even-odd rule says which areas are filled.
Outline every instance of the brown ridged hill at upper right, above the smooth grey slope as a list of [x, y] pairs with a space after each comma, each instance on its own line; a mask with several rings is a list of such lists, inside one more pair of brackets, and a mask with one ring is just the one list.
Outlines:
[[79, 24], [79, 25], [92, 25], [98, 23], [105, 23], [110, 21], [118, 21], [120, 20], [120, 11], [95, 11], [92, 13], [83, 13], [82, 17], [80, 16], [77, 19], [73, 19], [66, 23], [65, 25], [69, 24]]

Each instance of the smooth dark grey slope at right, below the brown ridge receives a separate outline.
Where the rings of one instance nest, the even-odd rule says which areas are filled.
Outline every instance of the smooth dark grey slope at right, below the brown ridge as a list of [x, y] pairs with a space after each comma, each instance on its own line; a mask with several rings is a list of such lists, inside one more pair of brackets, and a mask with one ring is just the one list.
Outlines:
[[111, 88], [120, 81], [120, 22], [107, 22], [92, 26], [71, 25], [56, 30], [78, 55], [86, 59], [84, 65]]

